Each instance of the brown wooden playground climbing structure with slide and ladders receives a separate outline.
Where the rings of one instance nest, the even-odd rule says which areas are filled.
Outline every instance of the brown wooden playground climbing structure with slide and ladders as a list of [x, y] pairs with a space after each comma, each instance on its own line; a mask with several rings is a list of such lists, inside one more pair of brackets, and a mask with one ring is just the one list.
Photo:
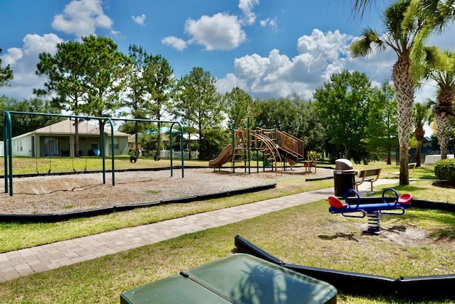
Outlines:
[[245, 168], [246, 171], [248, 168], [250, 173], [252, 153], [256, 153], [257, 160], [262, 156], [263, 166], [272, 167], [277, 173], [279, 168], [283, 170], [286, 162], [295, 165], [304, 161], [304, 141], [301, 139], [277, 129], [250, 129], [248, 125], [242, 121], [238, 129], [232, 128], [232, 143], [217, 158], [209, 161], [211, 168], [220, 168], [230, 161], [232, 171], [235, 172], [235, 168]]

